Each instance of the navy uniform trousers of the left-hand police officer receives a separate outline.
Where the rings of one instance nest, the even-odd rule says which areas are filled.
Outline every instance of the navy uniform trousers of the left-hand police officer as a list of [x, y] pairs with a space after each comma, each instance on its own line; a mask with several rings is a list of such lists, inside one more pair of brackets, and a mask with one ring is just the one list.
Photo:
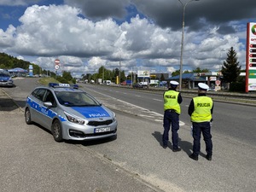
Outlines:
[[163, 146], [167, 146], [169, 141], [169, 131], [172, 126], [172, 148], [177, 149], [179, 129], [179, 114], [174, 110], [166, 110], [164, 114], [164, 134], [163, 134]]

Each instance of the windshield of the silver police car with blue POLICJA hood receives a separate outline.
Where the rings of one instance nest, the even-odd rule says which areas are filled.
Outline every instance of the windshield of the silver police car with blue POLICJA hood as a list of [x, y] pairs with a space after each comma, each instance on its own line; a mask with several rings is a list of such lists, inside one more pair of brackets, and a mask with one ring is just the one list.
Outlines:
[[84, 92], [55, 91], [61, 105], [67, 107], [99, 106], [100, 103]]

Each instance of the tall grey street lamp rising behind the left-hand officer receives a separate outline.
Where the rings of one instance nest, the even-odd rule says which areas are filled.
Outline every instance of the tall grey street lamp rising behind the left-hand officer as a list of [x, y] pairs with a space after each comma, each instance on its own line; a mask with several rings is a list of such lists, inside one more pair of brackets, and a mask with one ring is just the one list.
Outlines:
[[185, 28], [185, 9], [188, 3], [198, 2], [199, 0], [189, 0], [186, 3], [183, 3], [181, 0], [178, 0], [183, 5], [183, 29], [182, 29], [182, 41], [181, 41], [181, 50], [180, 50], [180, 67], [179, 67], [179, 91], [182, 90], [183, 83], [183, 41], [184, 41], [184, 28]]

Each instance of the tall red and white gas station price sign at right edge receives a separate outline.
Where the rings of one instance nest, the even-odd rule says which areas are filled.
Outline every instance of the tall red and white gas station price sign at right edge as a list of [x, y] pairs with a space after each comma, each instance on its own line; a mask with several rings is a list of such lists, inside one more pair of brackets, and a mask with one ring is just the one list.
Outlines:
[[256, 90], [256, 23], [247, 23], [246, 92]]

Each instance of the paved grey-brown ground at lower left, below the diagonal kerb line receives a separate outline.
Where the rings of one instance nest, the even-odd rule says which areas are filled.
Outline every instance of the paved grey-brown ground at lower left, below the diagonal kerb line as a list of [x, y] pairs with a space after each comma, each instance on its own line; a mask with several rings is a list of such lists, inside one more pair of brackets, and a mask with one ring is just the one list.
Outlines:
[[161, 191], [90, 148], [55, 143], [48, 131], [26, 125], [23, 111], [1, 88], [0, 113], [2, 192]]

